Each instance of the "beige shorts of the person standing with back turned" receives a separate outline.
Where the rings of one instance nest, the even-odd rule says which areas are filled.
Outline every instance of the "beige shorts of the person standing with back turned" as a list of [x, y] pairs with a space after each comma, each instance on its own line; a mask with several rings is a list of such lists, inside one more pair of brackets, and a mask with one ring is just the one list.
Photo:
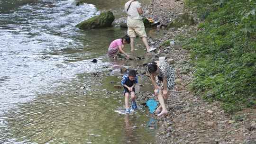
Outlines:
[[146, 37], [144, 23], [141, 19], [127, 18], [127, 26], [128, 26], [127, 33], [130, 37], [132, 38], [136, 37], [136, 33], [140, 37]]

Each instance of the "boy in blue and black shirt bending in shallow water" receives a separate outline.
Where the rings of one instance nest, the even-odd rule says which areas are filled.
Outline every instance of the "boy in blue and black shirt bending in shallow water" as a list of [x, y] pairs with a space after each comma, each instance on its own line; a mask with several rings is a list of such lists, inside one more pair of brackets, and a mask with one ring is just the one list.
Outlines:
[[[124, 87], [124, 95], [125, 95], [125, 108], [126, 113], [129, 113], [132, 110], [137, 109], [136, 104], [136, 96], [135, 96], [135, 85], [138, 83], [137, 72], [135, 70], [129, 70], [128, 74], [124, 74], [122, 78], [122, 86]], [[131, 107], [129, 109], [129, 95], [131, 95]]]

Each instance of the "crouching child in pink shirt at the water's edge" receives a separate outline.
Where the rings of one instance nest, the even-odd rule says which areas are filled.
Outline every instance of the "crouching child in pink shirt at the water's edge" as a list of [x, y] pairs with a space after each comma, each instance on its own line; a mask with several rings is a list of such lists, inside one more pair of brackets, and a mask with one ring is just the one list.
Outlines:
[[108, 55], [110, 57], [117, 58], [117, 54], [122, 53], [128, 59], [129, 55], [126, 54], [125, 51], [124, 51], [124, 48], [125, 48], [124, 44], [130, 44], [130, 37], [128, 35], [112, 41], [110, 43], [110, 47], [109, 47], [109, 50], [108, 50]]

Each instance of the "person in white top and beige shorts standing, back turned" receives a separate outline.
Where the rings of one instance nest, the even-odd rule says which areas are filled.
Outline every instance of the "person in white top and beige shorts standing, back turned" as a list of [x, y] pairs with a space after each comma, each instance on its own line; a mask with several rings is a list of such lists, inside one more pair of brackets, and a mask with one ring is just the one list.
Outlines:
[[127, 26], [128, 26], [128, 35], [131, 38], [130, 45], [131, 45], [131, 51], [134, 51], [134, 39], [136, 38], [137, 33], [144, 45], [146, 46], [146, 51], [150, 52], [155, 50], [155, 48], [149, 48], [147, 39], [146, 39], [146, 31], [143, 23], [143, 18], [141, 17], [141, 14], [143, 13], [141, 4], [136, 0], [129, 0], [125, 4], [125, 11], [128, 14], [127, 18]]

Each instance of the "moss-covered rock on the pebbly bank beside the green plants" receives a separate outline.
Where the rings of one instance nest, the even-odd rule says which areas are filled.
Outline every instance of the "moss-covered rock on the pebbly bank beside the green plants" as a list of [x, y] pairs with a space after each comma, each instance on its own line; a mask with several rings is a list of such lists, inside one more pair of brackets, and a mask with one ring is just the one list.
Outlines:
[[194, 18], [191, 15], [184, 13], [180, 15], [179, 18], [176, 18], [171, 23], [169, 23], [167, 28], [171, 28], [171, 27], [179, 28], [179, 27], [183, 27], [184, 25], [190, 26], [193, 24], [194, 24]]

